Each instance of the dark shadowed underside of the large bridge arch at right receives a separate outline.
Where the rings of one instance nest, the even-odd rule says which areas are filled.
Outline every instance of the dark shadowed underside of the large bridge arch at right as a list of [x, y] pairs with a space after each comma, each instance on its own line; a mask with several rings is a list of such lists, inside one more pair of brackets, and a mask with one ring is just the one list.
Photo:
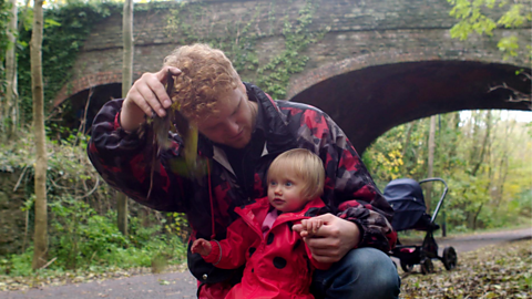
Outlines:
[[[530, 110], [511, 102], [507, 84], [531, 94], [531, 81], [520, 68], [479, 61], [416, 61], [367, 66], [317, 82], [290, 100], [328, 113], [359, 154], [393, 126], [461, 110]], [[530, 96], [529, 96], [530, 100]]]

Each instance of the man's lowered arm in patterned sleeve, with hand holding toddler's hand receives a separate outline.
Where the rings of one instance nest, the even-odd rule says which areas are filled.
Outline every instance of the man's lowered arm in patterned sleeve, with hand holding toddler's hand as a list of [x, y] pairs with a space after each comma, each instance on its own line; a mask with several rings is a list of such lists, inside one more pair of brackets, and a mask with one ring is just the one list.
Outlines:
[[396, 241], [390, 225], [393, 210], [351, 143], [325, 113], [307, 110], [301, 117], [299, 132], [319, 140], [313, 146], [326, 168], [324, 200], [337, 210], [336, 215], [319, 216], [327, 217], [325, 225], [315, 238], [306, 238], [313, 255], [319, 261], [334, 262], [356, 247], [388, 251]]

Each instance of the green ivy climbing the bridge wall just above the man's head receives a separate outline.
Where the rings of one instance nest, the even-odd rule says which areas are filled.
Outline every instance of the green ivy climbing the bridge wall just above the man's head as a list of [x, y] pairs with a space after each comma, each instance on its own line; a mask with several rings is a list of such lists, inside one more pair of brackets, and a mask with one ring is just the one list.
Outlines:
[[208, 14], [207, 6], [202, 2], [182, 2], [178, 8], [171, 10], [166, 32], [178, 35], [180, 44], [203, 42], [223, 50], [243, 80], [255, 79], [256, 84], [274, 99], [285, 99], [290, 78], [303, 72], [309, 60], [304, 54], [305, 50], [320, 40], [326, 30], [318, 32], [310, 30], [317, 4], [313, 0], [305, 1], [297, 19], [285, 16], [283, 20], [280, 35], [284, 38], [284, 49], [279, 49], [278, 54], [260, 65], [256, 44], [262, 38], [276, 35], [276, 1], [272, 1], [267, 12], [267, 29], [258, 28], [258, 17], [264, 7], [257, 6], [255, 11], [249, 11], [247, 16], [241, 16], [239, 20], [229, 23], [225, 30], [226, 34], [219, 37], [213, 33], [214, 23], [211, 28], [203, 27], [202, 30], [193, 25], [201, 24], [201, 18]]

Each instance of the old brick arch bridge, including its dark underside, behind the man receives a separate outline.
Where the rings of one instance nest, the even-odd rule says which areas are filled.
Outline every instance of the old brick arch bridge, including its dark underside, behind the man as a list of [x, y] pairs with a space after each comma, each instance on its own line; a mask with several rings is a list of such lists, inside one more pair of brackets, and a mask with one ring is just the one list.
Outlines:
[[[249, 51], [265, 65], [285, 48], [285, 21], [296, 25], [308, 3], [316, 9], [309, 30], [324, 34], [303, 53], [308, 62], [291, 76], [287, 99], [327, 112], [360, 153], [389, 128], [416, 118], [472, 109], [530, 110], [530, 102], [508, 101], [509, 90], [489, 92], [503, 83], [531, 92], [530, 81], [515, 75], [518, 70], [530, 73], [531, 61], [503, 61], [497, 49], [498, 38], [510, 30], [498, 30], [494, 38], [453, 40], [449, 29], [456, 21], [446, 0], [192, 1], [193, 10], [180, 14], [190, 27], [175, 31], [168, 31], [168, 7], [178, 3], [145, 4], [135, 12], [134, 79], [157, 71], [184, 40], [236, 34], [237, 43], [244, 30], [258, 37]], [[55, 106], [68, 100], [82, 109], [91, 99], [91, 118], [104, 102], [120, 97], [121, 27], [120, 14], [95, 24]], [[530, 24], [511, 33], [520, 37], [521, 49], [531, 43]], [[241, 75], [256, 82], [256, 68], [250, 69]]]

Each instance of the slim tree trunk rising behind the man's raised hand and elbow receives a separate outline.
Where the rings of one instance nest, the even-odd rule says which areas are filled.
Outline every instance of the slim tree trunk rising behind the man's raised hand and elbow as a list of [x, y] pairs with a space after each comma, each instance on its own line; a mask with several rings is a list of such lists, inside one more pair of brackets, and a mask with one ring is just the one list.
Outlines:
[[[127, 95], [133, 81], [133, 0], [125, 0], [122, 17], [122, 35], [124, 42], [122, 62], [122, 97]], [[116, 196], [119, 229], [127, 235], [127, 197], [119, 193]]]

